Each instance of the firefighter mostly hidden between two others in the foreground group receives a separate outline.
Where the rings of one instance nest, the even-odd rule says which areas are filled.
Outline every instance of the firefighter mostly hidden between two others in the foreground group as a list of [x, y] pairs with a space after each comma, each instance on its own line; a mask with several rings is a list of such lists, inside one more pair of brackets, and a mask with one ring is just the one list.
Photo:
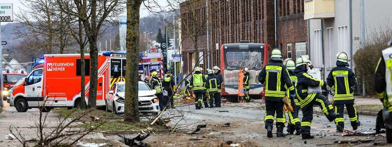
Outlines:
[[[294, 63], [293, 59], [288, 58], [285, 61], [283, 61], [283, 64], [286, 66], [287, 71], [289, 71], [291, 82], [293, 83], [294, 88], [295, 88], [295, 85], [297, 83], [297, 76], [294, 74], [295, 63]], [[290, 96], [289, 91], [287, 91], [287, 96]], [[301, 122], [298, 119], [298, 111], [299, 111], [299, 109], [301, 109], [301, 107], [296, 105], [298, 103], [298, 99], [296, 97], [290, 98], [290, 103], [294, 108], [294, 112], [293, 113], [290, 111], [288, 112], [289, 123], [287, 124], [287, 132], [288, 132], [288, 134], [293, 135], [294, 131], [296, 131], [295, 135], [301, 135]]]

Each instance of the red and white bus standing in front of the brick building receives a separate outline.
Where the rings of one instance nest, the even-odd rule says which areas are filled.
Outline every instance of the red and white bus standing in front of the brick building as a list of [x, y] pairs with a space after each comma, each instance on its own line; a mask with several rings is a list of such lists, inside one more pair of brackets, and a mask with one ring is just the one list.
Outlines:
[[259, 73], [268, 63], [268, 44], [241, 41], [221, 46], [221, 84], [222, 98], [237, 98], [240, 69], [248, 68], [250, 73], [250, 96], [261, 97], [263, 84], [258, 80]]

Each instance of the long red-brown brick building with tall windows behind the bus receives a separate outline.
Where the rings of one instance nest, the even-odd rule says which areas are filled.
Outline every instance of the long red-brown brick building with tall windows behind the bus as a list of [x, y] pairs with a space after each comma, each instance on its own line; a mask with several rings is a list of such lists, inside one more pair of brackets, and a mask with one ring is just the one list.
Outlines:
[[[211, 67], [220, 65], [222, 44], [267, 43], [272, 48], [283, 51], [284, 58], [296, 58], [307, 54], [307, 23], [304, 20], [303, 0], [276, 0], [277, 4], [277, 43], [275, 46], [274, 0], [209, 0], [208, 15], [203, 0], [189, 0], [180, 4], [181, 11], [181, 53], [183, 72], [192, 70], [196, 63], [194, 49], [195, 37], [189, 33], [193, 27], [200, 30], [197, 39], [198, 54], [207, 52], [205, 19], [209, 18], [209, 47]], [[189, 3], [197, 6], [189, 7]], [[187, 5], [188, 4], [188, 5]], [[195, 14], [201, 14], [195, 19]], [[203, 15], [205, 17], [203, 17]], [[198, 19], [200, 18], [200, 19]], [[197, 21], [196, 21], [197, 20]], [[197, 36], [197, 35], [196, 35]], [[193, 41], [194, 40], [194, 41]], [[207, 69], [207, 56], [203, 56], [200, 66]]]

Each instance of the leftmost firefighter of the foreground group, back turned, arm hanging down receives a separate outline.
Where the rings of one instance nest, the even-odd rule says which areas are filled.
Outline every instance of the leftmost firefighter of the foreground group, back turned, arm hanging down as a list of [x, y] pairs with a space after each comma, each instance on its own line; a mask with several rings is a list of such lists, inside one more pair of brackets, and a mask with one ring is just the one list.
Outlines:
[[[271, 62], [259, 73], [259, 81], [265, 86], [266, 116], [264, 118], [267, 137], [272, 137], [272, 125], [276, 113], [276, 137], [284, 137], [283, 129], [286, 118], [283, 112], [283, 98], [286, 96], [286, 87], [291, 97], [295, 97], [294, 86], [290, 80], [286, 66], [282, 64], [282, 53], [278, 49], [272, 50]], [[285, 87], [286, 86], [286, 87]]]

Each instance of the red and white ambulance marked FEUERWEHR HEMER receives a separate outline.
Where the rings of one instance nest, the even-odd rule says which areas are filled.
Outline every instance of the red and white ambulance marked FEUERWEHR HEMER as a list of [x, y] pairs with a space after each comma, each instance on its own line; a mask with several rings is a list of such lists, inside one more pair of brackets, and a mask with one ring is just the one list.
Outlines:
[[[125, 53], [98, 54], [98, 80], [90, 82], [90, 55], [85, 54], [85, 100], [91, 84], [97, 85], [97, 106], [105, 106], [106, 94], [113, 79], [125, 79]], [[46, 54], [38, 60], [23, 84], [14, 87], [10, 105], [18, 112], [44, 105], [53, 107], [81, 106], [80, 54]], [[48, 97], [47, 97], [48, 96]]]

